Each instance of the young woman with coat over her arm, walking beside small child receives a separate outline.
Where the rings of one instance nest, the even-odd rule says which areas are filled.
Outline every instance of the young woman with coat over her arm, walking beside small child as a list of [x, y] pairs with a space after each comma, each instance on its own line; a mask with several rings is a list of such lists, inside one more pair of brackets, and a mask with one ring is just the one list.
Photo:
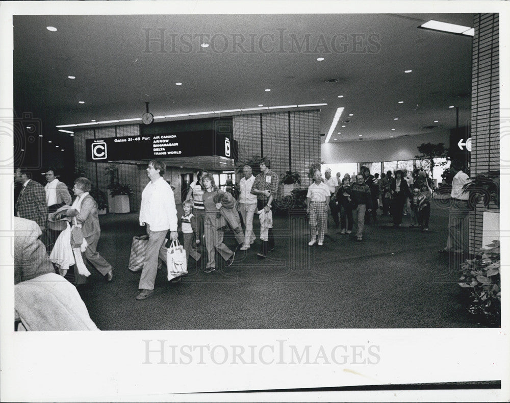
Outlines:
[[[219, 217], [221, 203], [215, 202], [215, 197], [218, 199], [218, 186], [214, 183], [213, 175], [204, 173], [201, 179], [202, 187], [205, 189], [202, 195], [203, 207], [205, 209], [205, 217], [203, 228], [206, 238], [206, 249], [208, 261], [206, 265], [206, 273], [216, 270], [215, 249], [219, 252], [221, 257], [226, 261], [228, 266], [234, 263], [236, 255], [228, 246], [223, 243], [223, 232], [218, 231], [220, 226]], [[232, 196], [231, 196], [232, 197]]]

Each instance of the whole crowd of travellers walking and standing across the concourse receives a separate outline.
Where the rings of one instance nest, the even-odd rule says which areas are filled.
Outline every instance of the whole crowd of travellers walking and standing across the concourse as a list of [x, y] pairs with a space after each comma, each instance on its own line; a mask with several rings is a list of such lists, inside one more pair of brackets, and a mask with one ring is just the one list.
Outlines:
[[[191, 183], [183, 200], [184, 213], [178, 219], [173, 189], [163, 177], [165, 163], [157, 160], [149, 162], [146, 169], [149, 182], [142, 192], [139, 214], [139, 223], [145, 226], [148, 239], [137, 300], [146, 299], [154, 293], [158, 259], [166, 262], [165, 245], [167, 241], [178, 239], [178, 231], [183, 234], [186, 259], [200, 262], [202, 270], [210, 273], [216, 270], [216, 252], [225, 265], [230, 266], [238, 249], [246, 251], [252, 247], [257, 239], [253, 231], [253, 219], [257, 213], [260, 221], [257, 256], [264, 259], [271, 253], [275, 247], [272, 205], [278, 192], [279, 178], [271, 170], [269, 159], [261, 159], [259, 168], [260, 173], [254, 176], [251, 166], [243, 167], [237, 199], [231, 192], [219, 189], [211, 173], [198, 171], [197, 180]], [[462, 186], [469, 177], [457, 161], [452, 162], [451, 170], [455, 177], [449, 237], [443, 250], [458, 251], [466, 247], [466, 217], [469, 211], [467, 194]], [[86, 260], [110, 282], [114, 275], [113, 267], [97, 251], [100, 226], [98, 206], [90, 195], [90, 180], [81, 177], [74, 181], [72, 200], [67, 186], [57, 179], [54, 168], [49, 168], [45, 175], [47, 184], [43, 187], [30, 180], [23, 169], [15, 171], [15, 182], [21, 185], [15, 214], [37, 223], [41, 243], [51, 248], [49, 258], [61, 275], [65, 275], [74, 264], [81, 267], [80, 275], [90, 274], [84, 264]], [[329, 214], [335, 227], [340, 229], [339, 234], [354, 232], [357, 241], [363, 241], [366, 223], [377, 222], [379, 210], [382, 216], [392, 216], [395, 227], [401, 226], [402, 217], [409, 214], [411, 227], [428, 230], [432, 189], [425, 172], [420, 171], [412, 185], [406, 179], [406, 172], [400, 169], [382, 173], [379, 178], [378, 174], [372, 175], [370, 169], [363, 166], [354, 178], [346, 173], [340, 179], [340, 172], [332, 177], [328, 168], [324, 177], [320, 170], [315, 171], [314, 182], [307, 192], [310, 246], [316, 243], [323, 245]], [[237, 242], [234, 250], [223, 242], [225, 231], [234, 234]], [[201, 254], [196, 248], [202, 243], [207, 253]]]

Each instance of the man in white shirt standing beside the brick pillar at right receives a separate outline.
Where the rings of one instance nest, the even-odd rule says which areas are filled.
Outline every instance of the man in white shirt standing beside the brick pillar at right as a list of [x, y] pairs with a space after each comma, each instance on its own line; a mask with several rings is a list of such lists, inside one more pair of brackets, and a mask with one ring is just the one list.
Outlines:
[[448, 218], [448, 240], [446, 248], [440, 251], [450, 253], [465, 253], [468, 250], [469, 239], [469, 192], [462, 190], [470, 179], [462, 170], [463, 164], [459, 160], [450, 163], [450, 172], [454, 175], [451, 183], [451, 204]]

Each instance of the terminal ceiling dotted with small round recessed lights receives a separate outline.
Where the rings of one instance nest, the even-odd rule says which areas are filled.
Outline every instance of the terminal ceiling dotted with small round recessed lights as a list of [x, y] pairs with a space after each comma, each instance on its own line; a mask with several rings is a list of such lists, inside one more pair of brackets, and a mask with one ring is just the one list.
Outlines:
[[[320, 107], [321, 133], [344, 107], [341, 120], [350, 122], [340, 122], [331, 141], [445, 131], [456, 125], [450, 105], [459, 108], [461, 126], [470, 116], [472, 38], [417, 28], [429, 19], [471, 27], [473, 15], [14, 16], [14, 106], [18, 115], [31, 111], [43, 119], [48, 135], [58, 133], [57, 124], [140, 117], [145, 102], [155, 116], [327, 103]], [[157, 42], [146, 48], [145, 29], [151, 37], [165, 30], [166, 53]], [[216, 36], [204, 49], [200, 38], [185, 34]], [[353, 51], [353, 34], [360, 52]], [[292, 35], [298, 41], [308, 35], [311, 52], [290, 52]], [[235, 38], [243, 37], [247, 52], [233, 52]]]

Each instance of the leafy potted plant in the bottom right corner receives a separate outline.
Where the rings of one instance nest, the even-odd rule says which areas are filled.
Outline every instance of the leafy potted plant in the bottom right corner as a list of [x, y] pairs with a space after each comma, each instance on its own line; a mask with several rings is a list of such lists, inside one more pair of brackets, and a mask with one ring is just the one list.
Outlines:
[[497, 325], [501, 320], [500, 242], [492, 241], [480, 253], [478, 258], [461, 265], [458, 285], [470, 291], [468, 312]]

